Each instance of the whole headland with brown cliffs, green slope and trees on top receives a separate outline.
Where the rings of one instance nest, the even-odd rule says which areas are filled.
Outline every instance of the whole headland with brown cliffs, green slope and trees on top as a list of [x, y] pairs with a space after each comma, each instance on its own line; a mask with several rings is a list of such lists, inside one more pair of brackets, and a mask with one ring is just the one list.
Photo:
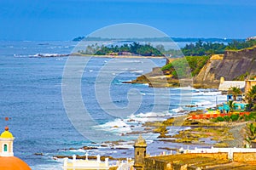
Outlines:
[[[178, 87], [180, 82], [189, 81], [193, 77], [195, 88], [218, 88], [220, 77], [225, 80], [244, 80], [256, 75], [256, 41], [230, 42], [224, 45], [223, 54], [206, 55], [210, 43], [196, 42], [188, 52], [190, 56], [167, 59], [166, 65], [154, 68], [153, 71], [137, 77], [131, 83], [148, 83], [152, 87]], [[185, 48], [188, 48], [186, 46]], [[192, 46], [191, 46], [192, 47]], [[219, 48], [222, 45], [214, 45]], [[199, 49], [200, 50], [196, 50]], [[220, 48], [219, 48], [220, 49]], [[184, 50], [184, 48], [183, 48]], [[217, 49], [212, 49], [212, 51]], [[223, 49], [221, 49], [223, 50]], [[195, 51], [195, 53], [194, 53]], [[194, 56], [194, 54], [201, 54]], [[162, 81], [166, 76], [166, 82]], [[190, 84], [189, 84], [190, 85]]]

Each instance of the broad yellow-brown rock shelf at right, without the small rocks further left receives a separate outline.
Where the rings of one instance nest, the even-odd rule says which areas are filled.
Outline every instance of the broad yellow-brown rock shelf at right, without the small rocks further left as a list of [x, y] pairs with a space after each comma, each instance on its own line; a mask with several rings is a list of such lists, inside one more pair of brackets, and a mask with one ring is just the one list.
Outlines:
[[[201, 111], [192, 111], [191, 114], [201, 114]], [[154, 127], [154, 133], [160, 133], [159, 139], [181, 144], [209, 144], [214, 147], [243, 147], [245, 128], [247, 122], [211, 122], [209, 120], [189, 120], [185, 116], [181, 130], [176, 134], [168, 135], [169, 130], [175, 126], [177, 118], [170, 118], [164, 122], [148, 122], [146, 127]], [[184, 118], [184, 116], [183, 116]], [[157, 124], [157, 126], [155, 126]]]

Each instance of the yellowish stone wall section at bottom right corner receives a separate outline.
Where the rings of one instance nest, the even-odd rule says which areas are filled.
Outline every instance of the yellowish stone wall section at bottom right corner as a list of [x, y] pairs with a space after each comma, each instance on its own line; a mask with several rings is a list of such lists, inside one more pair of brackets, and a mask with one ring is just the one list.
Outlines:
[[256, 153], [255, 152], [235, 152], [233, 154], [234, 161], [240, 162], [256, 162]]

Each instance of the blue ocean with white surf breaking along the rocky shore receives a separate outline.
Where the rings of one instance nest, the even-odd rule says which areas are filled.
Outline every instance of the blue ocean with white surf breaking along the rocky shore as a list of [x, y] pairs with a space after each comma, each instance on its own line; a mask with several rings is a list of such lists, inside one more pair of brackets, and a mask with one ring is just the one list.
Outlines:
[[[80, 149], [83, 146], [96, 147], [87, 150], [93, 156], [133, 157], [133, 140], [144, 131], [143, 122], [165, 120], [225, 100], [215, 89], [148, 88], [145, 84], [122, 83], [154, 66], [165, 65], [165, 59], [79, 58], [77, 64], [85, 64], [68, 77], [65, 71], [70, 71], [71, 59], [38, 57], [69, 54], [76, 45], [71, 41], [0, 42], [0, 129], [9, 126], [15, 136], [15, 156], [32, 169], [61, 169], [62, 160], [53, 157], [84, 155], [86, 150]], [[65, 80], [81, 84], [70, 89]], [[73, 95], [67, 95], [65, 89]], [[73, 92], [80, 92], [78, 102]], [[81, 121], [83, 114], [87, 122]], [[177, 129], [170, 128], [169, 133]], [[150, 154], [164, 151], [160, 146], [187, 147], [165, 143], [157, 136], [143, 133]], [[108, 143], [116, 140], [119, 144]]]

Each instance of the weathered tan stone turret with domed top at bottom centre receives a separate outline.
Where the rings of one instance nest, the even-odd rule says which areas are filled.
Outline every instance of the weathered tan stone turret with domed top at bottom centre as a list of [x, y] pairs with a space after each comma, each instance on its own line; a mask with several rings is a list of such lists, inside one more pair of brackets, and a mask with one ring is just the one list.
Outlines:
[[144, 158], [146, 156], [146, 148], [147, 143], [146, 140], [143, 139], [143, 136], [137, 138], [134, 144], [134, 165], [133, 167], [136, 170], [143, 170], [144, 167]]

